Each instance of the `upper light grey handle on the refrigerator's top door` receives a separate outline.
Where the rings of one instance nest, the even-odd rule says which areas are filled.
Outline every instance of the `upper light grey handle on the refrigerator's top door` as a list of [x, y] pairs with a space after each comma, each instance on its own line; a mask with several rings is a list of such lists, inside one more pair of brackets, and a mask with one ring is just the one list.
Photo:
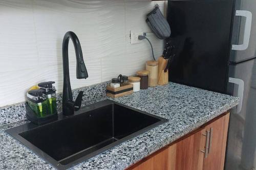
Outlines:
[[232, 45], [232, 50], [246, 50], [249, 45], [250, 34], [251, 34], [251, 19], [252, 14], [250, 11], [237, 10], [236, 16], [244, 16], [245, 20], [245, 29], [244, 29], [244, 40], [241, 45]]

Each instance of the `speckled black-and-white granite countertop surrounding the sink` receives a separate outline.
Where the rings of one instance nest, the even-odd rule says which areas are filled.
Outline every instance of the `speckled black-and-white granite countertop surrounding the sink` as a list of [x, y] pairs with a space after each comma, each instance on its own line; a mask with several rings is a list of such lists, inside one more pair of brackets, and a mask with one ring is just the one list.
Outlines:
[[[83, 105], [104, 99], [106, 97], [84, 102]], [[239, 102], [239, 98], [233, 96], [176, 83], [140, 90], [117, 99], [108, 99], [164, 117], [168, 122], [71, 169], [124, 169], [231, 109]], [[5, 133], [6, 129], [27, 122], [21, 120], [0, 127], [0, 169], [54, 169]]]

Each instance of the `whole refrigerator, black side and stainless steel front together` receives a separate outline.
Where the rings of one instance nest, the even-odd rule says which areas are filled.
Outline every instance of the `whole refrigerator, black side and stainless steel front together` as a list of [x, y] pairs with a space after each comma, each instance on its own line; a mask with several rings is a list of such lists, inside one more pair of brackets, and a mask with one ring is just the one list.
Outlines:
[[256, 0], [168, 1], [169, 81], [239, 96], [225, 169], [256, 169]]

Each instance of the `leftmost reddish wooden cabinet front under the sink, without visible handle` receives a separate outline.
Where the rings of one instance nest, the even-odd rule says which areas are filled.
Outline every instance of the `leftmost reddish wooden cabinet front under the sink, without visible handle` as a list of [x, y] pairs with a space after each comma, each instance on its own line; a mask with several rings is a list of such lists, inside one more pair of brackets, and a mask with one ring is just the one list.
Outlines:
[[146, 159], [134, 164], [126, 170], [168, 170], [168, 148], [148, 156]]

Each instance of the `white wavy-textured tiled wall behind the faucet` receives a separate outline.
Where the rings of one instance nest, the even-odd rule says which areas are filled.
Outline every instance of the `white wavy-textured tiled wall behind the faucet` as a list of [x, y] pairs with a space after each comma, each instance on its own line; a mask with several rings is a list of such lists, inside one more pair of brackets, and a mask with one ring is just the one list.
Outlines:
[[[164, 2], [157, 2], [163, 11]], [[145, 15], [156, 2], [84, 0], [0, 0], [0, 107], [25, 101], [28, 88], [55, 81], [62, 91], [62, 38], [77, 34], [89, 78], [76, 79], [75, 53], [69, 46], [72, 89], [133, 75], [151, 60], [146, 40], [130, 44], [130, 31], [151, 32]], [[155, 55], [163, 41], [150, 37]]]

